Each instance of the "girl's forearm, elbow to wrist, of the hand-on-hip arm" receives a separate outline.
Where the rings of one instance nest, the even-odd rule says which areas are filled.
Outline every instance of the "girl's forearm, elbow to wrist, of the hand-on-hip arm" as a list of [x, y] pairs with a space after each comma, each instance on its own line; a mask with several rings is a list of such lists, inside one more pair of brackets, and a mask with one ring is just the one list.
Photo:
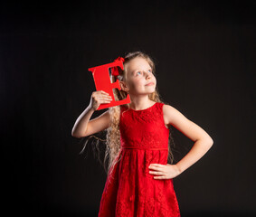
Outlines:
[[194, 146], [190, 151], [175, 164], [180, 172], [183, 173], [188, 167], [194, 165], [204, 154], [213, 146], [211, 139], [199, 139], [194, 142]]

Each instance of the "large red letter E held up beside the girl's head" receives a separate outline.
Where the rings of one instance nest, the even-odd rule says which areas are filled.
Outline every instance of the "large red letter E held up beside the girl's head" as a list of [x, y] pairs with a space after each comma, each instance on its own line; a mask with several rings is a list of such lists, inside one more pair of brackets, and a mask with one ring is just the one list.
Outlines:
[[88, 69], [89, 71], [92, 72], [96, 90], [103, 90], [105, 92], [108, 92], [109, 96], [112, 98], [112, 101], [110, 103], [100, 104], [100, 107], [97, 110], [107, 109], [109, 107], [114, 107], [114, 106], [119, 106], [119, 105], [130, 103], [129, 95], [127, 95], [127, 99], [122, 99], [119, 101], [116, 101], [114, 98], [113, 89], [116, 88], [116, 89], [121, 90], [121, 88], [119, 85], [119, 80], [117, 80], [114, 83], [111, 83], [111, 80], [109, 77], [109, 68], [118, 67], [118, 66], [122, 70], [124, 70], [123, 62], [119, 61], [119, 60]]

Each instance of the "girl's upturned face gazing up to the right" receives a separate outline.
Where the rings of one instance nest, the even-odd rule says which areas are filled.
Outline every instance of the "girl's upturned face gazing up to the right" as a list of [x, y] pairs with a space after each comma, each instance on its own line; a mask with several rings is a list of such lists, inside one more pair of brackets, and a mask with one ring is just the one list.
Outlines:
[[128, 61], [127, 65], [128, 93], [133, 95], [144, 95], [156, 90], [156, 77], [148, 62], [142, 57], [136, 57]]

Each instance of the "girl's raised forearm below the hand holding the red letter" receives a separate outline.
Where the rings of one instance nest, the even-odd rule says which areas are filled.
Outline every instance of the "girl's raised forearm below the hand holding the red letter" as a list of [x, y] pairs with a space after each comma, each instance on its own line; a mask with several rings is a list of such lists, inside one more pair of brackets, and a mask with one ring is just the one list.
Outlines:
[[79, 118], [76, 119], [74, 127], [72, 128], [72, 137], [83, 137], [93, 112], [94, 110], [89, 106], [81, 113]]

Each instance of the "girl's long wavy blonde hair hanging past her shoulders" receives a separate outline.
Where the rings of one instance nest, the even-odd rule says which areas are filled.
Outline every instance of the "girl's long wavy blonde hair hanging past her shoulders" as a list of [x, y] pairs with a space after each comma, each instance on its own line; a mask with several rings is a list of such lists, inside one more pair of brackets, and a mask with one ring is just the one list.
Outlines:
[[[146, 53], [144, 53], [144, 52], [128, 52], [128, 54], [124, 58], [125, 59], [125, 61], [123, 63], [124, 71], [122, 71], [119, 68], [119, 76], [117, 76], [117, 77], [111, 76], [111, 81], [112, 82], [115, 82], [116, 80], [126, 81], [126, 79], [127, 79], [127, 67], [126, 67], [127, 63], [128, 63], [128, 61], [131, 61], [136, 57], [144, 58], [148, 62], [150, 67], [152, 68], [153, 74], [156, 75], [155, 63], [154, 63], [154, 61], [152, 61], [152, 59]], [[113, 91], [114, 91], [115, 100], [121, 100], [121, 99], [127, 98], [128, 93], [126, 91], [118, 90], [118, 89], [114, 89]], [[163, 102], [165, 104], [168, 104], [160, 99], [160, 95], [158, 93], [157, 87], [156, 87], [155, 92], [148, 95], [148, 98], [155, 102]], [[126, 104], [126, 106], [128, 107], [128, 109], [130, 108], [129, 107], [130, 104]], [[96, 147], [99, 151], [99, 157], [98, 157], [99, 160], [100, 160], [99, 140], [104, 141], [106, 144], [103, 167], [107, 174], [111, 173], [112, 169], [119, 161], [118, 156], [120, 153], [120, 131], [119, 131], [120, 107], [119, 106], [110, 107], [109, 114], [110, 114], [110, 127], [108, 127], [107, 129], [104, 130], [107, 133], [106, 139], [103, 140], [103, 139], [100, 139], [99, 137], [95, 137], [93, 135], [90, 136], [90, 137], [95, 137], [96, 139], [98, 139], [98, 143], [96, 144]], [[171, 133], [173, 131], [171, 130], [171, 127], [169, 129], [170, 129], [170, 136], [169, 136], [169, 141], [168, 141], [168, 159], [167, 159], [167, 161], [168, 161], [168, 163], [173, 164], [174, 155], [173, 155], [171, 146], [172, 145], [175, 146], [175, 143], [174, 143], [174, 139], [173, 139], [172, 133]], [[84, 151], [84, 148], [85, 148], [88, 140], [90, 139], [90, 137], [86, 140], [86, 143], [84, 144], [83, 149], [81, 150], [81, 153]], [[106, 163], [107, 163], [108, 159], [109, 159], [109, 164], [106, 169]], [[102, 165], [101, 161], [100, 161], [100, 164]]]

